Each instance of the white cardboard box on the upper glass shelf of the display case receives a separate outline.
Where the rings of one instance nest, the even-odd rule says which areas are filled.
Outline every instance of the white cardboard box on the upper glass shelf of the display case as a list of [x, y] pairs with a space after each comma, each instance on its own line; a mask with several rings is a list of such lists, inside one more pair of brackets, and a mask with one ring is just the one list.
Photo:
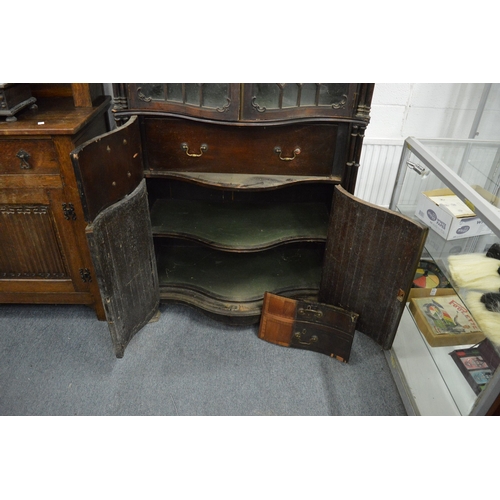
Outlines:
[[445, 240], [491, 234], [489, 227], [447, 188], [420, 193], [415, 215]]

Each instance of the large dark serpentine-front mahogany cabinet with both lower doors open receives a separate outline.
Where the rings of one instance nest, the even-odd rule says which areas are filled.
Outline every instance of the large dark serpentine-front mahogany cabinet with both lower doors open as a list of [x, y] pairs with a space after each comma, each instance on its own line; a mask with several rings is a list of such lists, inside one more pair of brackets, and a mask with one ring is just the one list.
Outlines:
[[160, 300], [248, 324], [266, 291], [390, 347], [426, 231], [352, 195], [373, 87], [114, 84], [120, 126], [72, 159], [118, 357]]

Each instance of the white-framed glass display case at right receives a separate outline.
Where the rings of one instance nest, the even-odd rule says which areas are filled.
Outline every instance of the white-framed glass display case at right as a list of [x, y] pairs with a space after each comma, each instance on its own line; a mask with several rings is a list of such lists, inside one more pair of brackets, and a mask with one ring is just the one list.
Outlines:
[[[406, 139], [390, 208], [417, 220], [420, 194], [442, 188], [452, 190], [491, 230], [491, 234], [458, 242], [446, 241], [429, 230], [422, 259], [439, 267], [467, 305], [472, 290], [457, 286], [448, 258], [464, 252], [485, 254], [491, 245], [500, 243], [500, 143]], [[500, 312], [491, 314], [498, 314], [500, 325]], [[500, 394], [500, 368], [476, 396], [450, 356], [453, 350], [467, 347], [471, 346], [430, 346], [407, 304], [387, 357], [410, 415], [486, 415], [491, 411]]]

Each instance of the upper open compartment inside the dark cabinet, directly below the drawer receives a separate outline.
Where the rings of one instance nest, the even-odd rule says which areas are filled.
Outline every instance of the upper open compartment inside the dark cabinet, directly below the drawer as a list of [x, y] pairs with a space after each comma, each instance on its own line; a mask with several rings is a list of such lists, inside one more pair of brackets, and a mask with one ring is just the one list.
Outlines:
[[325, 241], [325, 203], [209, 202], [158, 199], [151, 210], [153, 235], [176, 236], [228, 251], [257, 251], [284, 242]]

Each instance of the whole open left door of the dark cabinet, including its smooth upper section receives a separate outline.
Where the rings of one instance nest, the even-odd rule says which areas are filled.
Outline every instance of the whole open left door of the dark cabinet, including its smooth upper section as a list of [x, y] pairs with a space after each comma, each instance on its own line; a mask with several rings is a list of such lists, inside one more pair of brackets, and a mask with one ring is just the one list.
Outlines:
[[160, 302], [136, 117], [83, 144], [71, 157], [106, 319], [121, 358]]

